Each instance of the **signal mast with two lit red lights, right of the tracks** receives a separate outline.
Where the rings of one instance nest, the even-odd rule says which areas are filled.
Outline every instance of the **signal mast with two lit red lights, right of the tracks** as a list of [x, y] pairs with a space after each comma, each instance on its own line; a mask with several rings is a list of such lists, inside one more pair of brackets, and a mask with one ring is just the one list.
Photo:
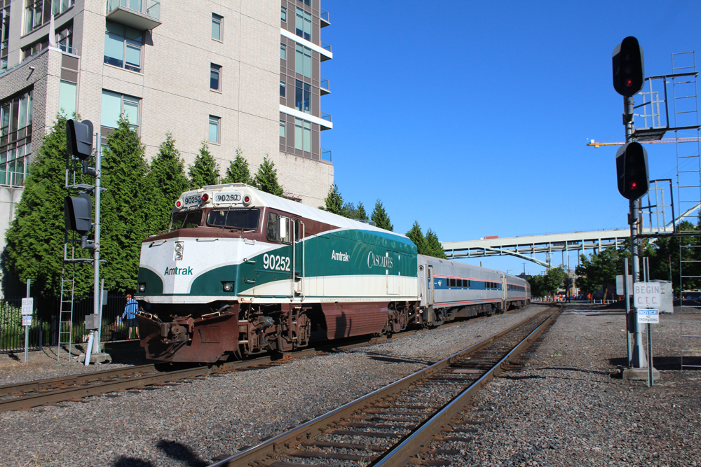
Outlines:
[[[637, 282], [640, 274], [638, 259], [638, 218], [640, 197], [648, 193], [650, 181], [648, 177], [648, 154], [645, 148], [631, 142], [633, 134], [634, 95], [643, 89], [645, 84], [645, 60], [643, 49], [638, 40], [628, 36], [613, 49], [613, 89], [623, 96], [623, 125], [625, 125], [625, 145], [616, 153], [616, 175], [618, 192], [629, 200], [628, 223], [630, 225], [630, 260], [632, 263], [633, 282]], [[626, 292], [626, 309], [628, 308], [628, 293]], [[633, 333], [633, 351], [629, 365], [632, 368], [647, 368], [640, 324], [637, 319], [637, 309], [626, 313], [628, 332]]]

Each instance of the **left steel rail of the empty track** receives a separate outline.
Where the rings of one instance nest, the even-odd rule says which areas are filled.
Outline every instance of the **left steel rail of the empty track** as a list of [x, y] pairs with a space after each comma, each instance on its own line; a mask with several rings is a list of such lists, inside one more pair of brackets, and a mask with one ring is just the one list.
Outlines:
[[500, 333], [491, 335], [490, 337], [487, 337], [484, 340], [476, 342], [475, 344], [470, 345], [470, 347], [467, 347], [466, 349], [458, 351], [455, 354], [444, 358], [441, 361], [433, 363], [433, 365], [429, 365], [428, 367], [423, 368], [422, 370], [418, 370], [417, 372], [414, 372], [411, 375], [408, 375], [401, 379], [397, 379], [397, 381], [390, 383], [387, 386], [384, 386], [380, 389], [376, 389], [375, 391], [372, 391], [371, 393], [368, 393], [365, 396], [361, 396], [360, 398], [352, 400], [349, 403], [341, 405], [341, 407], [337, 407], [336, 409], [322, 414], [319, 417], [315, 417], [310, 421], [306, 421], [304, 424], [301, 424], [296, 428], [292, 428], [288, 431], [285, 431], [284, 433], [280, 433], [279, 435], [275, 435], [272, 438], [268, 438], [267, 440], [261, 441], [257, 445], [248, 447], [247, 449], [245, 449], [242, 452], [239, 452], [238, 454], [234, 454], [233, 456], [230, 456], [226, 459], [222, 459], [220, 461], [212, 463], [210, 467], [247, 466], [252, 465], [252, 463], [254, 462], [264, 461], [264, 459], [267, 459], [268, 457], [282, 454], [285, 450], [288, 449], [288, 447], [296, 445], [299, 442], [306, 440], [307, 438], [313, 438], [315, 435], [322, 433], [322, 431], [327, 426], [335, 424], [344, 417], [348, 417], [349, 414], [352, 414], [357, 410], [361, 410], [362, 408], [366, 407], [367, 405], [370, 405], [376, 400], [380, 400], [389, 396], [390, 394], [394, 394], [398, 391], [401, 391], [402, 389], [406, 389], [418, 380], [429, 377], [430, 375], [433, 375], [434, 373], [439, 372], [444, 368], [447, 368], [449, 365], [455, 363], [456, 361], [459, 361], [464, 356], [473, 354], [475, 353], [475, 351], [478, 351], [483, 347], [489, 346], [489, 344], [491, 344], [492, 342], [500, 339], [505, 335], [508, 335], [509, 333], [512, 333], [514, 330], [523, 326], [525, 323], [528, 323], [533, 319], [537, 319], [538, 316], [542, 316], [543, 314], [550, 312], [551, 310], [552, 307], [547, 308], [542, 312], [538, 312], [537, 314], [531, 316], [529, 319], [525, 319], [524, 321], [521, 321], [520, 323], [517, 323], [514, 326], [511, 326], [510, 328], [501, 331]]

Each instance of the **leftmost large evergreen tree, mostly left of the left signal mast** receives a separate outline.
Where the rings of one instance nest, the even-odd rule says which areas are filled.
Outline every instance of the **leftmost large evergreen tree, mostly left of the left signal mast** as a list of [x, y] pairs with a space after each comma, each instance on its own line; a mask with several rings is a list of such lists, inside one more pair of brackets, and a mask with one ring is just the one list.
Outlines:
[[[68, 194], [65, 174], [66, 118], [57, 115], [32, 159], [15, 218], [5, 232], [2, 266], [6, 295], [24, 296], [27, 279], [32, 280], [33, 293], [60, 294], [65, 227], [62, 200]], [[88, 258], [90, 253], [79, 248], [76, 256]], [[91, 290], [92, 270], [92, 265], [77, 266], [76, 293]]]

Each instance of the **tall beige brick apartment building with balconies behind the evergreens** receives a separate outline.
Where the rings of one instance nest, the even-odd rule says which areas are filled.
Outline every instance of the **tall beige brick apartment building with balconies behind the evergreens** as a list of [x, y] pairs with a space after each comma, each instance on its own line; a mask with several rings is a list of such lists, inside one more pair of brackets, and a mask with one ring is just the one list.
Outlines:
[[[59, 111], [103, 140], [124, 114], [148, 158], [172, 132], [224, 175], [240, 148], [270, 158], [285, 194], [320, 206], [334, 182], [321, 132], [329, 82], [320, 0], [0, 0], [0, 229]], [[279, 44], [279, 55], [278, 55]], [[4, 240], [3, 240], [4, 242]]]

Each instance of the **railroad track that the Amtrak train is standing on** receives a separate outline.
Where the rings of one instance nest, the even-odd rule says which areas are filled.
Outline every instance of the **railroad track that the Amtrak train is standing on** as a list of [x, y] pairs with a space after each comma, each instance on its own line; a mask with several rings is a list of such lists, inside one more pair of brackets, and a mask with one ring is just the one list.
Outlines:
[[[484, 318], [486, 318], [486, 316], [477, 319]], [[470, 321], [475, 321], [475, 319]], [[456, 326], [464, 322], [465, 321], [453, 321], [438, 326], [438, 328]], [[111, 392], [144, 389], [147, 386], [158, 386], [165, 383], [177, 382], [181, 379], [205, 377], [206, 375], [215, 373], [277, 364], [280, 363], [280, 361], [286, 361], [290, 358], [300, 358], [329, 351], [339, 351], [351, 347], [376, 344], [405, 335], [422, 333], [426, 330], [430, 329], [407, 330], [402, 333], [395, 333], [394, 335], [372, 337], [370, 339], [367, 337], [353, 337], [321, 344], [317, 347], [301, 349], [292, 353], [271, 354], [244, 361], [220, 363], [218, 365], [182, 368], [182, 365], [172, 367], [168, 365], [168, 363], [150, 363], [147, 365], [117, 368], [116, 370], [103, 370], [66, 377], [41, 379], [27, 383], [8, 384], [6, 386], [0, 386], [0, 412], [27, 410], [32, 407], [55, 405], [67, 401], [75, 402], [86, 397], [100, 396]]]

